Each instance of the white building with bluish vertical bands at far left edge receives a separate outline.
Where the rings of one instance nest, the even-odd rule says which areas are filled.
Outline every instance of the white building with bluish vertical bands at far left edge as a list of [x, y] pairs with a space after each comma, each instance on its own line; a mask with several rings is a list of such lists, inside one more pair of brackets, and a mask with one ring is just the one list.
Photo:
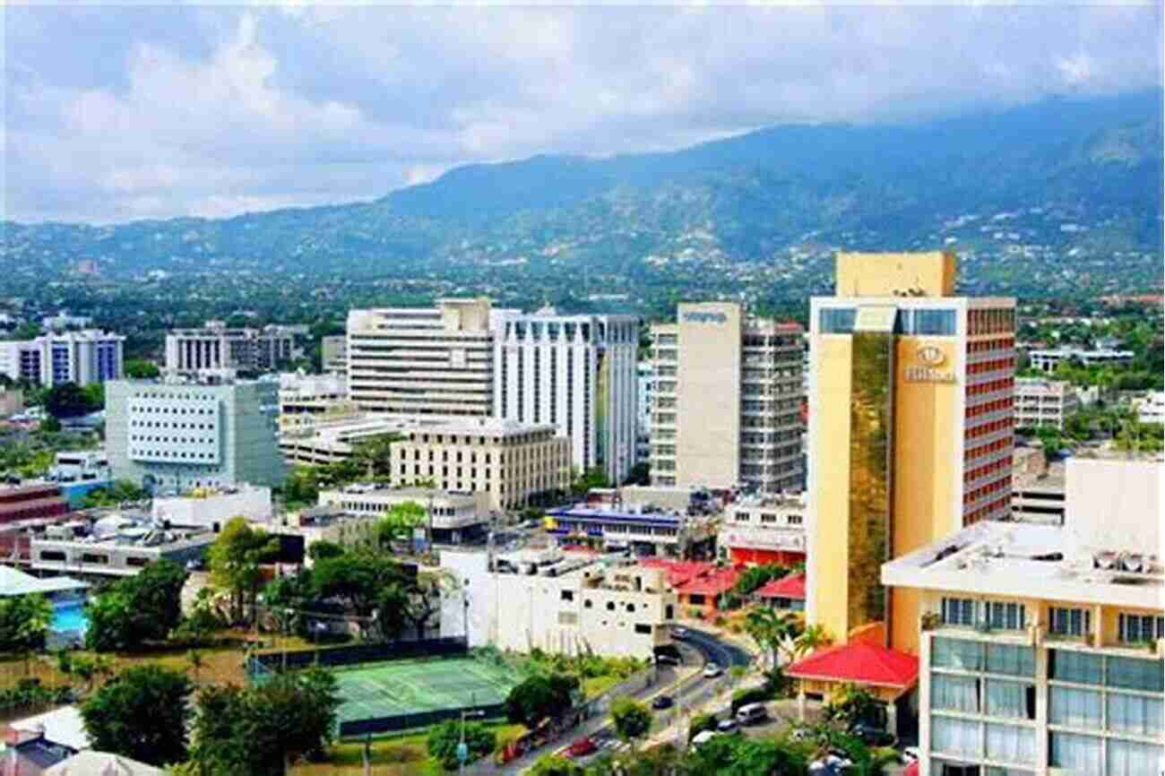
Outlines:
[[45, 388], [63, 382], [87, 386], [122, 375], [126, 338], [104, 331], [62, 331], [36, 339], [0, 343], [0, 374]]

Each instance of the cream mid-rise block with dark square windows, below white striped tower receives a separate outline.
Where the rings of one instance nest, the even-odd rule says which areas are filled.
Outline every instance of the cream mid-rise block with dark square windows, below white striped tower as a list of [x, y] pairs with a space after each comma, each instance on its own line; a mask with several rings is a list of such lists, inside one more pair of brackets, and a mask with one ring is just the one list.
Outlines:
[[557, 430], [493, 418], [415, 426], [390, 447], [393, 485], [480, 492], [489, 509], [521, 509], [570, 487], [570, 440]]

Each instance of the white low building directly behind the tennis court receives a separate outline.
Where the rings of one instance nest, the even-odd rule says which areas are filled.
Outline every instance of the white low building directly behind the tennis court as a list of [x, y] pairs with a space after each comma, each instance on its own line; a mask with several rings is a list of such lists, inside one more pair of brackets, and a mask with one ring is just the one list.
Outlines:
[[518, 652], [648, 658], [671, 644], [678, 607], [663, 569], [553, 551], [503, 564], [513, 571], [488, 563], [486, 552], [442, 552], [463, 591], [446, 597], [442, 633], [467, 629], [471, 647]]

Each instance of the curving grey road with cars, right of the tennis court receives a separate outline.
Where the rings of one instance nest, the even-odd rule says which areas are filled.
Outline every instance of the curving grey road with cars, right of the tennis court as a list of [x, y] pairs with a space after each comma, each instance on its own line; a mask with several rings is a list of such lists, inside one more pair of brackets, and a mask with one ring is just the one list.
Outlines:
[[[743, 649], [721, 641], [711, 633], [687, 628], [687, 634], [689, 635], [684, 641], [677, 642], [677, 647], [679, 647], [680, 655], [684, 658], [685, 669], [702, 666], [704, 663], [712, 662], [727, 669], [732, 665], [748, 665], [751, 659], [749, 654]], [[677, 676], [676, 669], [668, 665], [661, 666], [656, 682], [629, 693], [629, 696], [636, 700], [645, 700], [658, 693], [661, 687], [666, 687], [669, 684], [673, 683]], [[663, 724], [670, 724], [675, 721], [678, 710], [684, 707], [690, 708], [693, 704], [704, 703], [707, 698], [711, 698], [716, 690], [721, 689], [725, 682], [729, 680], [730, 679], [727, 675], [716, 679], [706, 679], [702, 676], [697, 675], [683, 685], [677, 697], [678, 703], [675, 706], [668, 710], [656, 711], [654, 713]], [[600, 714], [585, 720], [581, 725], [572, 729], [562, 739], [536, 749], [513, 762], [504, 766], [479, 763], [476, 768], [473, 770], [467, 769], [466, 773], [480, 774], [481, 776], [516, 776], [532, 766], [543, 755], [557, 752], [572, 741], [578, 741], [584, 736], [594, 739], [595, 742], [602, 747], [602, 749], [613, 749], [619, 746], [617, 740], [614, 738], [614, 733], [610, 731], [610, 719], [606, 714]], [[585, 762], [588, 759], [589, 757], [580, 759], [580, 762]]]

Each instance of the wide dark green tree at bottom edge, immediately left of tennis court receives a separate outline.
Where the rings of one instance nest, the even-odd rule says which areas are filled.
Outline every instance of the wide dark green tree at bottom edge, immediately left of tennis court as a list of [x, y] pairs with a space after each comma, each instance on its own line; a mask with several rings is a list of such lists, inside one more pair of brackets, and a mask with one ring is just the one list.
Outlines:
[[204, 687], [191, 760], [214, 776], [278, 776], [297, 760], [323, 757], [339, 705], [336, 677], [319, 668], [259, 686]]

